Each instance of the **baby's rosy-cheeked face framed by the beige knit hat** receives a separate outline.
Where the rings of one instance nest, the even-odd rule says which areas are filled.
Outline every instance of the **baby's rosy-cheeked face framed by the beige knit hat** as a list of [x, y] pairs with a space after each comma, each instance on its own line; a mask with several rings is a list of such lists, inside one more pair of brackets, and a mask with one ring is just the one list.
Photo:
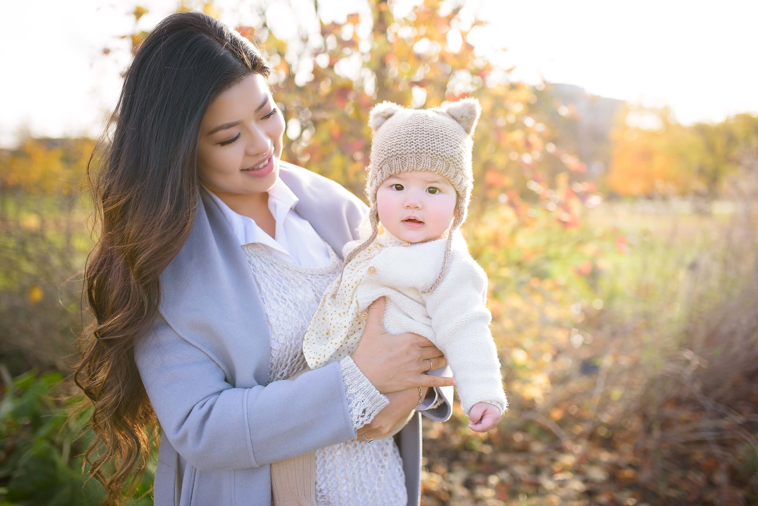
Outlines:
[[377, 190], [379, 220], [408, 242], [438, 239], [450, 226], [458, 195], [446, 178], [426, 170], [391, 176]]

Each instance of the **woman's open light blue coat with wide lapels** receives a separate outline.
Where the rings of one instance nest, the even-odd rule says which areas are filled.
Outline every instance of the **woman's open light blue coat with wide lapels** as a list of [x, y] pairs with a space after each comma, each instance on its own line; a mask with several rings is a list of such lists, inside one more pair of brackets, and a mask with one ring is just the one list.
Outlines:
[[[280, 177], [299, 198], [297, 213], [334, 251], [356, 239], [366, 207], [355, 195], [285, 162]], [[264, 386], [269, 339], [244, 252], [221, 210], [201, 190], [192, 233], [161, 275], [160, 315], [135, 352], [163, 433], [155, 506], [271, 504], [271, 462], [356, 438], [339, 364]], [[446, 402], [424, 414], [441, 421], [451, 414], [453, 388], [439, 392]], [[415, 505], [418, 414], [396, 441], [409, 504]]]

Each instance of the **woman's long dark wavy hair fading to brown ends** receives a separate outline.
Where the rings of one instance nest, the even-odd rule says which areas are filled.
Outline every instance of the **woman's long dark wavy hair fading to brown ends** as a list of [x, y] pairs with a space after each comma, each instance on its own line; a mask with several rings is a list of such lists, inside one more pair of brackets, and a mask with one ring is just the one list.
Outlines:
[[258, 49], [224, 23], [172, 14], [127, 70], [100, 162], [87, 167], [97, 242], [85, 268], [94, 321], [83, 333], [77, 385], [92, 401], [89, 473], [118, 504], [148, 459], [155, 414], [134, 361], [161, 299], [159, 276], [192, 229], [199, 205], [197, 146], [208, 105], [251, 73], [268, 77]]

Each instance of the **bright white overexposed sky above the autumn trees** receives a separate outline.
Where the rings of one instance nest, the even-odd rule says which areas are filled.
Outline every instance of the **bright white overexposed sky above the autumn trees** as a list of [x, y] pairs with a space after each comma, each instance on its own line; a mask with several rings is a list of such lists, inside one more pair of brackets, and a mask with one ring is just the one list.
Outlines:
[[[418, 0], [400, 0], [398, 11]], [[24, 0], [0, 6], [0, 145], [18, 133], [96, 135], [121, 86], [133, 5], [150, 13], [149, 28], [176, 0]], [[191, 2], [189, 2], [191, 3]], [[217, 0], [222, 19], [252, 24], [266, 5], [274, 30], [307, 23], [312, 0]], [[327, 21], [340, 5], [319, 0]], [[503, 46], [512, 79], [572, 83], [588, 92], [650, 105], [670, 105], [678, 120], [722, 120], [758, 113], [758, 2], [753, 0], [471, 0], [490, 27], [471, 42], [482, 51]], [[281, 20], [278, 22], [277, 20]], [[102, 48], [111, 55], [102, 56]]]

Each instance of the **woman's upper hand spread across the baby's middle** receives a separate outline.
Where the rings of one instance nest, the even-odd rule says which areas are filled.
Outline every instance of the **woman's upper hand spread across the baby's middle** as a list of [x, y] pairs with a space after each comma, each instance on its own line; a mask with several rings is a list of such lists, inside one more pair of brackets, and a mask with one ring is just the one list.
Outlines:
[[[387, 394], [418, 386], [456, 384], [453, 378], [424, 374], [447, 364], [437, 346], [418, 334], [386, 333], [383, 317], [384, 297], [381, 297], [368, 307], [363, 337], [352, 354], [352, 361], [375, 389]], [[415, 392], [418, 400], [418, 389]]]

